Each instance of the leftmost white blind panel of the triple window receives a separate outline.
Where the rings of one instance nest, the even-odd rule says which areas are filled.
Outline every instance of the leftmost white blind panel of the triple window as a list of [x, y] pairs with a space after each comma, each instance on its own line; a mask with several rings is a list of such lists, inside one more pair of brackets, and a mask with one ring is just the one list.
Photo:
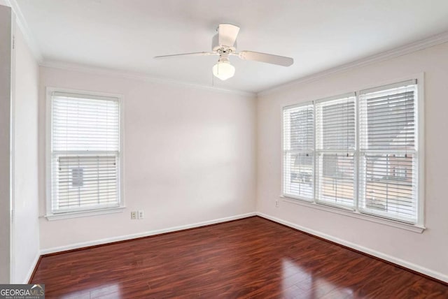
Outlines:
[[314, 198], [313, 105], [283, 110], [283, 189], [288, 196]]

